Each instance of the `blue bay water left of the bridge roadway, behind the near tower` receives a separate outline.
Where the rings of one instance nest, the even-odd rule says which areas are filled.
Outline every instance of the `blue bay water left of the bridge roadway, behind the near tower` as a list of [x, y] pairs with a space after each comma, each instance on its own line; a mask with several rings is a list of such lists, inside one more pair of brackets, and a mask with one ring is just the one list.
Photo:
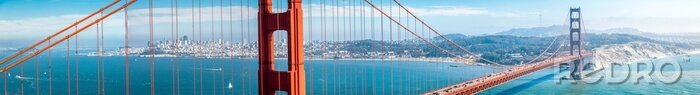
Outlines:
[[[7, 55], [8, 53], [0, 53], [3, 57]], [[46, 95], [49, 93], [49, 88], [52, 94], [58, 95], [68, 94], [69, 88], [71, 94], [93, 95], [99, 90], [97, 89], [98, 65], [96, 62], [102, 59], [105, 62], [105, 93], [116, 95], [126, 93], [124, 57], [72, 56], [71, 64], [68, 65], [65, 55], [65, 51], [54, 51], [51, 57], [44, 53], [13, 68], [9, 71], [12, 76], [3, 78], [0, 82], [7, 81], [6, 92], [11, 95], [21, 93], [34, 95], [37, 90], [40, 94]], [[49, 62], [52, 65], [51, 69], [49, 69]], [[277, 69], [286, 68], [285, 60], [280, 59], [276, 62], [279, 62]], [[149, 63], [149, 58], [129, 58], [131, 94], [150, 93]], [[175, 63], [179, 63], [179, 68], [173, 69]], [[40, 64], [38, 69], [36, 69], [37, 64]], [[68, 76], [69, 66], [70, 76]], [[53, 72], [49, 72], [50, 70]], [[154, 70], [157, 95], [257, 94], [256, 59], [156, 58]], [[173, 78], [173, 70], [179, 70], [179, 86], [175, 85], [178, 81], [174, 81], [177, 78]], [[480, 66], [418, 61], [307, 60], [306, 71], [308, 94], [413, 95], [497, 70]], [[49, 75], [43, 74], [44, 72], [53, 74], [51, 81], [49, 81]], [[15, 78], [20, 74], [25, 79]], [[68, 86], [69, 77], [70, 86]], [[51, 87], [49, 82], [52, 83]], [[233, 88], [227, 88], [229, 82]], [[179, 91], [173, 90], [177, 87]]]

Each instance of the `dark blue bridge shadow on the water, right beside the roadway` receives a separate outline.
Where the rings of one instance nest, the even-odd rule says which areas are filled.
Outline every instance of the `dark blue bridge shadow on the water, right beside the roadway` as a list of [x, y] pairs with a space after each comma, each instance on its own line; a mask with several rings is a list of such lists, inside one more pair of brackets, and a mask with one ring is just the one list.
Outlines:
[[520, 85], [515, 86], [515, 87], [513, 87], [513, 88], [506, 89], [506, 90], [503, 90], [503, 91], [501, 91], [501, 92], [498, 92], [496, 95], [514, 95], [514, 94], [516, 94], [517, 92], [523, 91], [523, 90], [525, 90], [525, 89], [527, 89], [527, 88], [530, 88], [530, 87], [533, 87], [533, 86], [535, 86], [535, 85], [537, 85], [537, 84], [540, 84], [540, 83], [542, 83], [542, 82], [545, 82], [545, 81], [547, 81], [548, 79], [554, 78], [555, 76], [556, 76], [556, 74], [548, 74], [548, 75], [546, 75], [546, 76], [542, 76], [542, 77], [540, 77], [540, 78], [531, 80], [531, 81], [529, 81], [529, 82], [527, 82], [527, 83], [523, 83], [523, 84], [520, 84]]

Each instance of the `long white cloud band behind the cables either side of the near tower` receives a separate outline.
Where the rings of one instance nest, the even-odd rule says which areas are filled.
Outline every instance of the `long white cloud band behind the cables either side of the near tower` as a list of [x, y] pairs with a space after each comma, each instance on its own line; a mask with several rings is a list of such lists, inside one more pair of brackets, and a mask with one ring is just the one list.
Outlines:
[[[325, 6], [325, 8], [324, 8]], [[214, 8], [212, 12], [211, 8]], [[223, 8], [223, 15], [220, 9]], [[332, 6], [332, 5], [320, 5], [313, 4], [309, 8], [304, 6], [305, 13], [307, 17], [319, 17], [319, 16], [350, 16], [353, 15], [351, 12], [359, 13], [365, 12], [365, 16], [371, 16], [370, 12], [375, 11], [369, 6]], [[231, 11], [233, 9], [233, 11]], [[491, 16], [507, 16], [511, 14], [495, 14], [485, 9], [479, 8], [469, 8], [461, 6], [434, 6], [425, 8], [408, 7], [416, 15], [419, 16], [472, 16], [472, 15], [491, 15]], [[195, 13], [192, 13], [193, 11]], [[383, 8], [385, 12], [393, 13], [394, 16], [398, 15], [399, 12], [405, 15], [405, 11], [399, 10], [398, 6], [391, 6]], [[131, 9], [129, 10], [129, 25], [146, 25], [148, 24], [148, 9]], [[230, 13], [233, 15], [230, 15]], [[325, 13], [322, 15], [322, 13]], [[195, 19], [192, 20], [192, 17]], [[246, 14], [246, 15], [241, 15]], [[154, 23], [170, 23], [172, 20], [172, 11], [170, 8], [154, 8]], [[187, 23], [199, 20], [200, 13], [197, 8], [180, 8], [178, 9], [179, 18], [178, 21], [181, 23]], [[13, 32], [37, 32], [37, 31], [56, 31], [62, 27], [69, 25], [77, 21], [79, 18], [86, 16], [86, 14], [71, 14], [71, 15], [61, 15], [52, 17], [41, 17], [41, 18], [27, 18], [19, 20], [0, 20], [0, 33], [13, 33]], [[247, 7], [247, 6], [215, 6], [215, 7], [202, 7], [201, 9], [202, 21], [231, 21], [231, 20], [242, 20], [242, 19], [256, 19], [257, 18], [257, 8]], [[223, 19], [221, 18], [223, 16]], [[380, 16], [379, 13], [375, 13], [375, 16]], [[214, 19], [212, 19], [212, 17]], [[94, 19], [93, 19], [94, 20]], [[88, 20], [86, 22], [90, 22]], [[124, 25], [123, 13], [114, 14], [105, 20], [106, 27], [110, 26], [121, 26]]]

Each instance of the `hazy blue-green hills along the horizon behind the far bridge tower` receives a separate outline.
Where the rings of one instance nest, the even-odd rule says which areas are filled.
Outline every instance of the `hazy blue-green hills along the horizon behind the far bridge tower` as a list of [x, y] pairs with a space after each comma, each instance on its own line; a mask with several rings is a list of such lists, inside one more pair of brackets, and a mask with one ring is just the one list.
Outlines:
[[[593, 48], [601, 47], [603, 45], [611, 44], [626, 44], [630, 42], [649, 42], [665, 45], [673, 45], [669, 42], [657, 41], [649, 39], [646, 37], [630, 35], [630, 34], [585, 34], [585, 48], [591, 50]], [[523, 37], [523, 36], [512, 36], [512, 35], [485, 35], [485, 36], [465, 36], [461, 34], [449, 34], [446, 37], [452, 39], [458, 45], [465, 47], [469, 51], [480, 54], [483, 58], [496, 61], [503, 64], [517, 64], [523, 61], [529, 61], [535, 56], [546, 50], [547, 46], [553, 39], [558, 38], [559, 40], [555, 45], [551, 45], [551, 48], [559, 47], [559, 43], [568, 43], [568, 35], [560, 36], [550, 36], [550, 37]], [[467, 55], [462, 52], [458, 47], [452, 46], [451, 43], [444, 41], [441, 37], [432, 37], [432, 42], [436, 45], [444, 48], [451, 53], [457, 55]], [[341, 46], [336, 50], [346, 50], [353, 53], [364, 53], [364, 52], [382, 52], [382, 51], [392, 51], [392, 52], [405, 52], [405, 51], [415, 51], [419, 50], [424, 53], [412, 54], [412, 56], [426, 56], [426, 57], [451, 57], [442, 51], [427, 45], [421, 41], [395, 41], [395, 42], [384, 42], [376, 40], [358, 40], [350, 41], [347, 43], [338, 43]], [[382, 47], [385, 47], [382, 49]], [[562, 51], [566, 51], [568, 48], [562, 48]], [[553, 51], [550, 49], [548, 52]], [[321, 53], [321, 52], [318, 52]], [[524, 57], [522, 58], [511, 58], [508, 54], [520, 54]]]

